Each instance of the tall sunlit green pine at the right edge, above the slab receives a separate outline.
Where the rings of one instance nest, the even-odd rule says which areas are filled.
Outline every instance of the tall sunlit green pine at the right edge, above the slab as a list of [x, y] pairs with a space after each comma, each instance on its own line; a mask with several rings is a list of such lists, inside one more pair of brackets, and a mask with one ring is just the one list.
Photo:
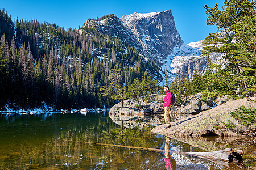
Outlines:
[[221, 95], [256, 96], [255, 1], [225, 0], [221, 10], [217, 4], [204, 8], [207, 25], [216, 25], [220, 30], [205, 39], [204, 44], [209, 46], [204, 47], [204, 54], [225, 53], [228, 62], [225, 69], [215, 73], [220, 79], [213, 76], [216, 83], [212, 91]]

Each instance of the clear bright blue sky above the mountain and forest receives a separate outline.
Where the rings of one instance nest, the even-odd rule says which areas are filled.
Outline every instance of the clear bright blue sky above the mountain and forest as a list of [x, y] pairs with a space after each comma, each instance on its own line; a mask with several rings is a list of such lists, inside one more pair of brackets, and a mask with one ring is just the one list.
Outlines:
[[115, 14], [130, 15], [134, 12], [148, 13], [172, 10], [177, 31], [187, 44], [204, 39], [217, 28], [206, 25], [207, 15], [203, 6], [213, 7], [215, 3], [223, 5], [224, 0], [131, 0], [131, 1], [67, 1], [67, 0], [1, 0], [1, 8], [5, 8], [12, 18], [36, 19], [39, 22], [56, 23], [60, 27], [79, 28], [87, 19]]

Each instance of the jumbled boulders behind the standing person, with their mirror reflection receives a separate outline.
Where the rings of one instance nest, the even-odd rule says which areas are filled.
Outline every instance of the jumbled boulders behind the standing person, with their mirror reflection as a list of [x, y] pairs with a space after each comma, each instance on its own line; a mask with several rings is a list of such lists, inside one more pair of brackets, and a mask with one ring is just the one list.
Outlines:
[[[190, 116], [191, 114], [197, 114], [201, 111], [210, 109], [209, 105], [202, 101], [201, 94], [196, 94], [188, 97], [188, 105], [183, 107], [174, 106], [170, 109], [170, 118], [172, 120], [179, 120]], [[155, 96], [158, 101], [139, 101], [141, 103], [140, 108], [136, 108], [138, 101], [135, 99], [129, 99], [123, 101], [123, 108], [121, 103], [115, 104], [109, 111], [109, 116], [112, 120], [127, 128], [134, 126], [146, 126], [146, 125], [159, 125], [164, 124], [164, 110], [163, 103], [160, 103], [164, 99], [165, 95]], [[153, 117], [152, 115], [158, 115], [158, 118]], [[150, 117], [151, 116], [151, 117]], [[122, 122], [125, 121], [125, 122]]]

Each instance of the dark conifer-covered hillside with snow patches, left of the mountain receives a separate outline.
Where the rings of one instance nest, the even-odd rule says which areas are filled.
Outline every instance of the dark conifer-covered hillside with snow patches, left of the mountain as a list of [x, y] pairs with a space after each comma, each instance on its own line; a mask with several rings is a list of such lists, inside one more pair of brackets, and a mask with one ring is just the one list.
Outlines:
[[[97, 18], [105, 19], [109, 16]], [[91, 19], [94, 20], [94, 19]], [[64, 29], [55, 23], [12, 20], [0, 11], [0, 106], [55, 109], [113, 105], [102, 96], [118, 69], [120, 84], [128, 88], [136, 78], [157, 72], [129, 44], [96, 29]]]

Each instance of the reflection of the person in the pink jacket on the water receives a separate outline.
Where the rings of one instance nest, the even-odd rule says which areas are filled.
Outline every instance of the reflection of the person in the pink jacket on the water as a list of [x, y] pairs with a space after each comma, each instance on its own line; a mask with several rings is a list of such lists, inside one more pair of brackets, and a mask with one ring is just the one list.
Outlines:
[[166, 145], [164, 146], [164, 162], [166, 162], [166, 169], [172, 170], [172, 167], [176, 169], [176, 161], [175, 159], [172, 159], [170, 154], [170, 138], [166, 137]]

